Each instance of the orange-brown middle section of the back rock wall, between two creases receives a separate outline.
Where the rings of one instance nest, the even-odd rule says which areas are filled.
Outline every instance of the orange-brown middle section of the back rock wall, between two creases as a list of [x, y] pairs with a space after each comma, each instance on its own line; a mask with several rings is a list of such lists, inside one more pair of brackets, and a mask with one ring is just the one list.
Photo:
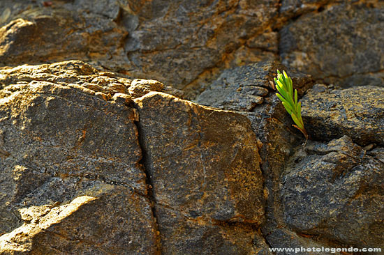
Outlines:
[[[261, 34], [276, 16], [277, 4], [264, 0], [137, 2], [131, 10], [140, 23], [126, 41], [128, 58], [135, 66], [131, 75], [150, 75], [184, 91], [190, 86], [193, 94], [192, 89], [199, 89], [193, 82], [209, 77], [210, 70], [217, 72], [215, 66], [223, 68], [237, 57], [228, 64], [263, 58], [265, 52], [243, 48], [247, 40], [276, 45], [277, 38], [269, 37], [266, 42]], [[242, 50], [248, 52], [245, 58], [236, 54]], [[267, 58], [275, 56], [269, 53]]]

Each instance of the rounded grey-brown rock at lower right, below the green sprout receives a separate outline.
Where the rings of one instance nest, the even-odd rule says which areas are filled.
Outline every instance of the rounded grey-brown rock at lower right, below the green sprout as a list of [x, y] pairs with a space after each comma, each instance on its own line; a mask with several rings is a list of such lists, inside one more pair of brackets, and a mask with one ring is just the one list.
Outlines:
[[384, 242], [384, 164], [349, 137], [309, 141], [286, 167], [281, 199], [288, 226], [353, 247]]

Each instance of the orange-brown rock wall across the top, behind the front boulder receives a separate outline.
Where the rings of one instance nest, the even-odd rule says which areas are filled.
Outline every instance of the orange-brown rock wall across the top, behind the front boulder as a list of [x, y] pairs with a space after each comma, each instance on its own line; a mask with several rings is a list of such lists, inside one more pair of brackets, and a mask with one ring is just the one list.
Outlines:
[[377, 1], [43, 3], [0, 3], [3, 65], [80, 59], [159, 80], [189, 99], [224, 69], [280, 57], [327, 83], [384, 81]]

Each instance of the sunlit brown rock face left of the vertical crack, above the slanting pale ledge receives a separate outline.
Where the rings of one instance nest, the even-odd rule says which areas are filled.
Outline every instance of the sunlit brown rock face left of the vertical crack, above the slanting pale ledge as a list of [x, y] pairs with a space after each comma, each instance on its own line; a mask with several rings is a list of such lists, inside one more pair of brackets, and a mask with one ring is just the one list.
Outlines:
[[145, 194], [138, 131], [128, 118], [133, 114], [125, 105], [50, 82], [3, 90], [0, 232], [20, 226], [20, 208], [71, 201], [96, 180]]

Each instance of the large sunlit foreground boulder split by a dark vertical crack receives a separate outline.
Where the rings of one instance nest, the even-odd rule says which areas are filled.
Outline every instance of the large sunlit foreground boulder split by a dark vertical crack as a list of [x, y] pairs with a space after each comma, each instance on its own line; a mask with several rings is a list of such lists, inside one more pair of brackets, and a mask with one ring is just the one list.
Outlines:
[[131, 80], [81, 61], [0, 74], [0, 254], [156, 254], [160, 243], [170, 254], [267, 252], [246, 116], [160, 92], [132, 109], [116, 90]]

